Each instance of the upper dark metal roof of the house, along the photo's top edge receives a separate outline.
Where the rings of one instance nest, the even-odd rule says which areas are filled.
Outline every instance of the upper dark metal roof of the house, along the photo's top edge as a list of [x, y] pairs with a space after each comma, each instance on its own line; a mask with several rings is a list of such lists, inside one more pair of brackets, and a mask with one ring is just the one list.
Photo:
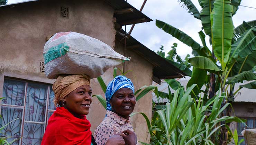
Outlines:
[[[28, 1], [22, 1], [17, 3], [5, 4], [0, 6], [0, 8], [15, 7], [15, 5], [17, 4], [28, 3], [33, 1], [39, 1], [39, 0], [28, 0]], [[136, 24], [141, 22], [153, 21], [152, 19], [148, 18], [145, 14], [143, 14], [142, 12], [140, 12], [139, 10], [131, 6], [131, 4], [129, 4], [125, 0], [104, 0], [104, 1], [108, 3], [111, 7], [113, 7], [115, 10], [126, 9], [126, 8], [133, 9], [133, 12], [114, 14], [114, 17], [117, 18], [117, 22], [120, 25], [131, 25], [131, 24]]]

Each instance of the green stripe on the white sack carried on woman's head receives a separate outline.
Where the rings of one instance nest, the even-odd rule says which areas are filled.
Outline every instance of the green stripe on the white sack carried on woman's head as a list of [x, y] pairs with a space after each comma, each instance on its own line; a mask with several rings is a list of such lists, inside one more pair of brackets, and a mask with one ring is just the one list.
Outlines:
[[67, 46], [67, 43], [61, 43], [59, 45], [56, 45], [52, 48], [50, 48], [46, 54], [44, 54], [44, 62], [47, 64], [49, 61], [52, 61], [56, 58], [59, 58], [63, 55], [65, 55], [69, 50], [69, 46]]

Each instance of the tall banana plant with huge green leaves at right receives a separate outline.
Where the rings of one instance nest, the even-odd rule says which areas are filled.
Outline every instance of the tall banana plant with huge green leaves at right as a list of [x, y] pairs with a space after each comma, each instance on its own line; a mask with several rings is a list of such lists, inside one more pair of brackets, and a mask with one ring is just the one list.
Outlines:
[[[234, 28], [232, 22], [232, 16], [236, 13], [241, 0], [198, 0], [202, 7], [201, 12], [191, 0], [179, 1], [186, 6], [189, 13], [201, 20], [202, 30], [199, 36], [203, 46], [186, 33], [163, 21], [156, 20], [156, 26], [192, 48], [195, 57], [189, 59], [193, 72], [187, 87], [198, 84], [201, 88], [205, 85], [207, 88], [204, 92], [209, 93], [209, 98], [216, 96], [215, 94], [220, 91], [225, 94], [223, 105], [228, 101], [232, 102], [241, 88], [255, 89], [256, 74], [252, 69], [256, 65], [256, 20], [243, 22], [237, 28]], [[211, 46], [206, 45], [205, 35], [209, 36]], [[235, 84], [244, 80], [251, 82], [234, 90]], [[193, 92], [195, 95], [199, 94], [195, 88]], [[230, 112], [231, 109], [228, 107], [222, 115], [229, 116]], [[225, 144], [226, 129], [222, 128], [222, 132], [220, 144]]]

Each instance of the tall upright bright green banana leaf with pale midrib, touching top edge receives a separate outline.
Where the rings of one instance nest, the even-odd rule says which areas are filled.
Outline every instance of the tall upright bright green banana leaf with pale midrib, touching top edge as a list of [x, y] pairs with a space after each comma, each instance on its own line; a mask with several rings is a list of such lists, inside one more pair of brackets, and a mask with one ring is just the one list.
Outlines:
[[213, 26], [214, 55], [220, 61], [222, 70], [226, 67], [231, 51], [231, 41], [233, 38], [233, 7], [230, 0], [214, 1]]

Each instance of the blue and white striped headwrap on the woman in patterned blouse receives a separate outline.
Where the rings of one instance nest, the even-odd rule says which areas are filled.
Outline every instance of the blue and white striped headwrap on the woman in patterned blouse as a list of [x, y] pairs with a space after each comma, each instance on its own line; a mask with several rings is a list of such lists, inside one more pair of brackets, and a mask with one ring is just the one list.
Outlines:
[[134, 86], [130, 79], [126, 78], [125, 76], [116, 76], [112, 81], [110, 81], [106, 89], [105, 96], [107, 100], [107, 110], [112, 111], [110, 99], [112, 98], [113, 94], [121, 88], [129, 88], [134, 93]]

